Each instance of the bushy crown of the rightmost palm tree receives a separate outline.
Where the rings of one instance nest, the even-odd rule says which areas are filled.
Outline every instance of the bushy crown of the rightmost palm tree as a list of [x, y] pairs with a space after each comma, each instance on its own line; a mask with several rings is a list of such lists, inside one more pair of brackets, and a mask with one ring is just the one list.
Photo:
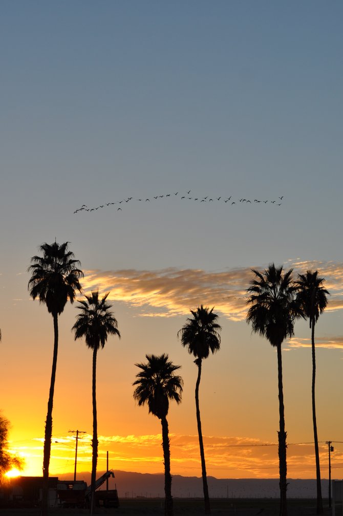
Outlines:
[[306, 274], [299, 274], [296, 286], [298, 288], [297, 300], [301, 305], [304, 315], [309, 319], [309, 327], [317, 322], [319, 315], [328, 305], [330, 292], [323, 287], [323, 278], [318, 278], [318, 271], [308, 270]]

